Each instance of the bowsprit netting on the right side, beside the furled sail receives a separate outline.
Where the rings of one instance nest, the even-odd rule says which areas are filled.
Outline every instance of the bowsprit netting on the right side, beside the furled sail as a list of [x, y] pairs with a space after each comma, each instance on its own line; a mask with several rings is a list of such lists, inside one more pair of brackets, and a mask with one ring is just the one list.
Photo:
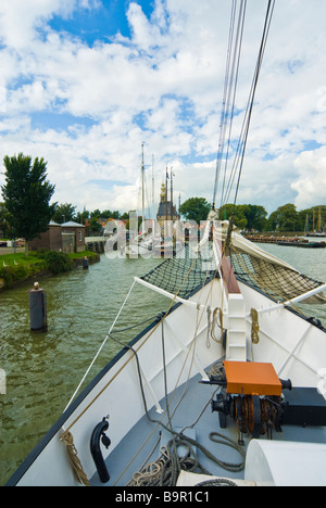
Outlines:
[[[237, 253], [230, 256], [231, 266], [238, 280], [284, 302], [308, 293], [323, 284], [298, 271], [277, 266], [250, 254]], [[316, 294], [305, 303], [321, 304], [326, 299]]]

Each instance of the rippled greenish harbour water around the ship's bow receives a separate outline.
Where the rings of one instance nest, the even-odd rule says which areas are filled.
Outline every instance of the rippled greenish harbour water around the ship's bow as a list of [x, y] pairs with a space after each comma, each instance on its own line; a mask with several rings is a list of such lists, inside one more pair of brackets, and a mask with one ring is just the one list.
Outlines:
[[[299, 271], [326, 280], [326, 249], [260, 246]], [[161, 259], [108, 259], [102, 255], [89, 270], [79, 268], [41, 280], [48, 303], [47, 333], [29, 331], [30, 283], [0, 293], [0, 369], [7, 374], [7, 394], [0, 394], [0, 485], [66, 407], [130, 290], [133, 277], [145, 275], [160, 263]], [[131, 296], [117, 328], [139, 323], [170, 305], [170, 301], [139, 284]], [[326, 326], [324, 307], [310, 307], [308, 312]], [[129, 341], [143, 328], [141, 325], [126, 332], [123, 340]], [[108, 340], [80, 390], [118, 350], [116, 343]]]

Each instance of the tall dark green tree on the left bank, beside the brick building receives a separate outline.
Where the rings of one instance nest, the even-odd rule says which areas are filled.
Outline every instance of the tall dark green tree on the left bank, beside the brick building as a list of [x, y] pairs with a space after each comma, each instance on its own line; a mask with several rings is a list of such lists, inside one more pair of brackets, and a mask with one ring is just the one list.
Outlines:
[[47, 163], [20, 153], [3, 158], [5, 185], [1, 187], [12, 238], [22, 237], [28, 241], [47, 231], [55, 204], [50, 205], [54, 186], [47, 180]]

